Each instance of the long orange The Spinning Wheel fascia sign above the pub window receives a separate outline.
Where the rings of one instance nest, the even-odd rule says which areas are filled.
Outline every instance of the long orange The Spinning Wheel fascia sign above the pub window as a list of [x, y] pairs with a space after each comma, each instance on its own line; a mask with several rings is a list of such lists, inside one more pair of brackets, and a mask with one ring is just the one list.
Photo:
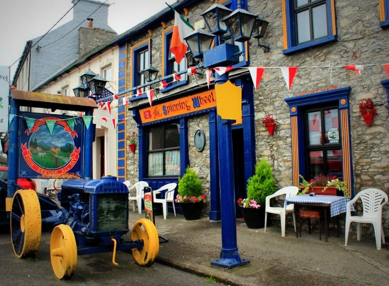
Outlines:
[[216, 107], [214, 89], [141, 109], [140, 115], [142, 123], [149, 123], [213, 107]]

